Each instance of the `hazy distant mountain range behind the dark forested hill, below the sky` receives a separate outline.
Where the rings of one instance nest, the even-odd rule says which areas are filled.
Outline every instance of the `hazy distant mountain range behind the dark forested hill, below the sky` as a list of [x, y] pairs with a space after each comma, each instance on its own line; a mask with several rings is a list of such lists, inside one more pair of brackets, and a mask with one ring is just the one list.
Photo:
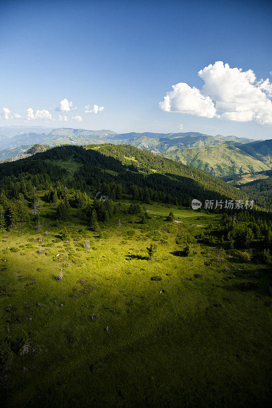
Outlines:
[[237, 136], [211, 136], [199, 132], [117, 134], [111, 130], [51, 129], [43, 126], [0, 127], [0, 135], [0, 160], [17, 157], [34, 144], [112, 143], [150, 150], [219, 177], [269, 170], [272, 164], [271, 140]]

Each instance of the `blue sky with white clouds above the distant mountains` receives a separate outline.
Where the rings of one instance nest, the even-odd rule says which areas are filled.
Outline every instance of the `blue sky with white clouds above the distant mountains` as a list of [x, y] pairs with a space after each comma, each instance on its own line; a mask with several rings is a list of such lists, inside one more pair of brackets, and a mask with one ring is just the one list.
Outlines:
[[182, 124], [271, 138], [271, 12], [271, 2], [246, 1], [0, 2], [0, 107], [9, 111], [0, 126], [180, 132]]

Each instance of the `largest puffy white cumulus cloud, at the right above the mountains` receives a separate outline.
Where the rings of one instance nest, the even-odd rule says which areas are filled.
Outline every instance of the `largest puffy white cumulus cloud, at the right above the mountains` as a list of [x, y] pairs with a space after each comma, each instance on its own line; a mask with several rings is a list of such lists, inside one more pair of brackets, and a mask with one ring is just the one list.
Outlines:
[[268, 79], [257, 81], [252, 69], [242, 71], [222, 61], [208, 65], [198, 75], [204, 80], [201, 90], [185, 83], [174, 85], [159, 107], [166, 112], [272, 124], [272, 84]]

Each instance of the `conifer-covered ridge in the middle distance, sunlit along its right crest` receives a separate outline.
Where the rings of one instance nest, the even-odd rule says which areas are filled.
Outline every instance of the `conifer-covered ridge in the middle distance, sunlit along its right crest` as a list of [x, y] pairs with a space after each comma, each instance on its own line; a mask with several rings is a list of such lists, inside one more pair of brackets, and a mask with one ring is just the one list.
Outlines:
[[[189, 206], [193, 198], [204, 202], [206, 199], [225, 200], [246, 198], [237, 188], [205, 171], [183, 165], [147, 150], [131, 145], [100, 144], [86, 146], [60, 146], [48, 149], [27, 159], [5, 163], [0, 168], [0, 176], [18, 174], [22, 171], [36, 174], [40, 168], [44, 172], [48, 163], [78, 163], [78, 177], [86, 185], [117, 183], [122, 190], [132, 194], [132, 186], [151, 189], [154, 197], [161, 201]], [[47, 169], [47, 170], [46, 170]], [[66, 166], [64, 166], [66, 169]], [[150, 194], [150, 192], [149, 192]], [[158, 198], [157, 198], [158, 199]], [[148, 202], [148, 200], [147, 200]]]

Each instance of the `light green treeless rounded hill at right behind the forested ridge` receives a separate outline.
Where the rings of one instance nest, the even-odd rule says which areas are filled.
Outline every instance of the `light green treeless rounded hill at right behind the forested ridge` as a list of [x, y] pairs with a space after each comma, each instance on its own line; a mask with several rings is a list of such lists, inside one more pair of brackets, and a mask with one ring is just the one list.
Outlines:
[[[201, 148], [178, 149], [163, 154], [169, 159], [212, 172], [216, 176], [268, 170], [268, 164], [256, 159], [241, 148], [215, 145]], [[264, 160], [264, 159], [263, 159]]]

